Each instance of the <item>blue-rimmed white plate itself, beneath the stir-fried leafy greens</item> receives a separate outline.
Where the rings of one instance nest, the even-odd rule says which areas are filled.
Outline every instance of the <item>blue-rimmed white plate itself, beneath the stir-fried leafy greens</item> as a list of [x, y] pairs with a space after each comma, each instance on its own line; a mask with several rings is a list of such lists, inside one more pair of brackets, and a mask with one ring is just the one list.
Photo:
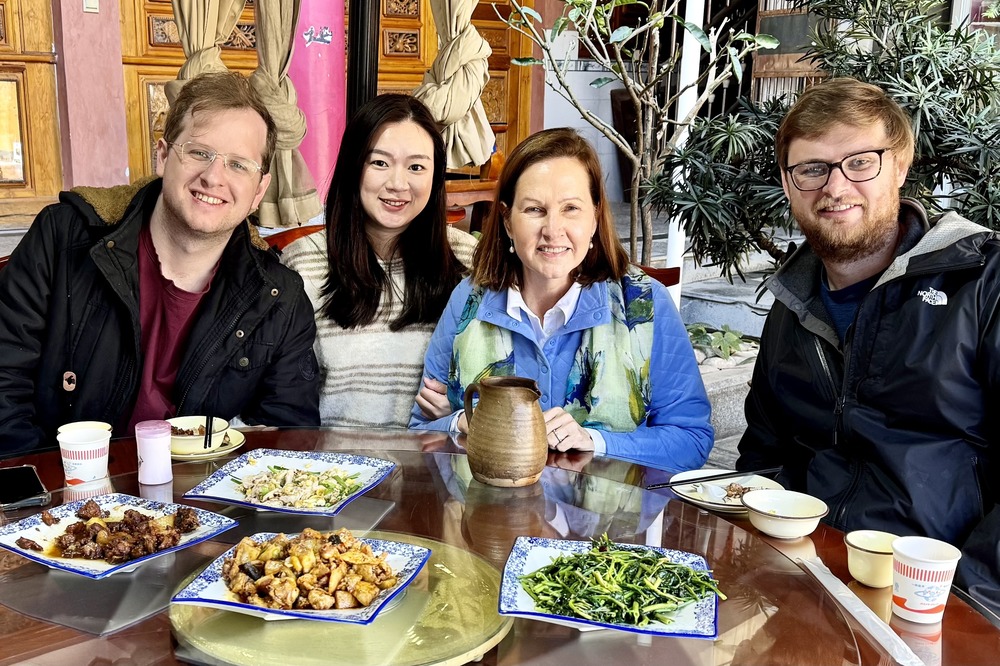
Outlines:
[[[668, 557], [672, 562], [686, 564], [692, 569], [708, 569], [705, 558], [694, 553], [652, 546], [632, 546], [623, 544], [626, 548], [635, 550], [655, 550]], [[685, 606], [674, 615], [670, 624], [651, 622], [645, 627], [629, 624], [613, 624], [608, 622], [592, 622], [567, 615], [546, 613], [535, 608], [532, 599], [521, 587], [520, 576], [537, 571], [551, 564], [560, 555], [583, 553], [591, 548], [590, 541], [566, 541], [562, 539], [543, 539], [541, 537], [518, 537], [511, 549], [507, 564], [503, 569], [503, 580], [500, 584], [500, 614], [514, 615], [531, 620], [552, 622], [575, 627], [581, 631], [590, 629], [621, 629], [637, 634], [653, 634], [656, 636], [681, 636], [690, 638], [715, 638], [719, 634], [718, 597], [714, 594]]]

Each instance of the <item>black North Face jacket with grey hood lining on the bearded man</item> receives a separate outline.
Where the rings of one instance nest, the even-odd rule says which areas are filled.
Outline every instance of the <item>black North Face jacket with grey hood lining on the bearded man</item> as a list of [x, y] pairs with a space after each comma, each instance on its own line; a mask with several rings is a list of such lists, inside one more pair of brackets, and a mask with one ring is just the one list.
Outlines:
[[997, 499], [1000, 241], [904, 200], [900, 253], [841, 348], [803, 246], [768, 282], [768, 315], [737, 467], [827, 502], [848, 531], [961, 546]]

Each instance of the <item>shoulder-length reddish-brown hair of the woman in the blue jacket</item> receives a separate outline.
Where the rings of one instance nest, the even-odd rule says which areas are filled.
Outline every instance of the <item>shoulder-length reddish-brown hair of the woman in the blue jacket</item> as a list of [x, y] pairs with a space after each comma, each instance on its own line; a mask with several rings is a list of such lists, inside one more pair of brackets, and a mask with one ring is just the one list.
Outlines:
[[593, 146], [575, 130], [560, 127], [529, 136], [511, 152], [497, 182], [493, 207], [483, 224], [482, 237], [476, 245], [472, 281], [487, 289], [500, 291], [520, 285], [521, 260], [509, 252], [511, 240], [504, 218], [514, 205], [517, 181], [530, 166], [556, 157], [571, 157], [583, 166], [590, 177], [590, 197], [597, 218], [594, 247], [587, 252], [576, 275], [583, 285], [602, 280], [620, 280], [628, 270], [628, 253], [618, 240], [608, 197], [604, 192], [601, 163]]

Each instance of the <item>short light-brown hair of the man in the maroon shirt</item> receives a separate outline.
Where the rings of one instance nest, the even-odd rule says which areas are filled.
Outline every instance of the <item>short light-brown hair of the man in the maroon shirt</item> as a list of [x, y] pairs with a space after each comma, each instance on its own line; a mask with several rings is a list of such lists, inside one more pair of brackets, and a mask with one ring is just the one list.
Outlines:
[[278, 142], [278, 128], [264, 101], [250, 85], [250, 79], [236, 72], [206, 72], [185, 83], [177, 94], [177, 99], [170, 105], [170, 110], [167, 111], [167, 120], [163, 125], [163, 140], [173, 143], [184, 131], [184, 122], [188, 115], [194, 115], [197, 111], [230, 109], [256, 111], [264, 121], [267, 127], [267, 141], [261, 154], [263, 168], [261, 173], [267, 173], [271, 169], [271, 158]]

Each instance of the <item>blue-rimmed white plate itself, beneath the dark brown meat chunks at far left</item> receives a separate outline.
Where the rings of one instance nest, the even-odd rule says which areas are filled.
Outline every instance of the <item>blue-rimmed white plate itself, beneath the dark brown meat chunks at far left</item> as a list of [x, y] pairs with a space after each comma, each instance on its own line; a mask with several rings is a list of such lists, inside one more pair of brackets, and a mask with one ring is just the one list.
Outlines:
[[[154, 502], [141, 497], [135, 497], [134, 495], [123, 495], [120, 493], [98, 495], [97, 497], [92, 497], [90, 499], [97, 502], [103, 510], [109, 512], [111, 514], [111, 520], [121, 519], [126, 509], [135, 509], [136, 511], [150, 516], [161, 517], [173, 515], [177, 513], [177, 509], [181, 507], [180, 504]], [[211, 539], [217, 534], [221, 534], [222, 532], [236, 526], [236, 521], [232, 518], [227, 518], [211, 511], [188, 507], [194, 509], [194, 512], [198, 515], [198, 529], [194, 532], [181, 535], [180, 542], [173, 548], [167, 548], [157, 553], [152, 553], [151, 555], [146, 555], [145, 557], [140, 557], [121, 564], [109, 564], [104, 560], [55, 557], [54, 555], [46, 554], [47, 550], [42, 552], [37, 550], [25, 550], [24, 548], [16, 545], [15, 542], [19, 538], [26, 537], [37, 543], [42, 548], [48, 549], [49, 546], [52, 545], [55, 538], [61, 536], [69, 525], [72, 525], [80, 520], [80, 518], [76, 517], [76, 512], [79, 511], [86, 502], [87, 500], [80, 500], [78, 502], [70, 502], [69, 504], [63, 504], [49, 509], [49, 513], [54, 518], [58, 519], [58, 522], [53, 525], [46, 525], [42, 522], [41, 513], [37, 513], [34, 516], [19, 520], [16, 523], [0, 527], [0, 546], [3, 546], [7, 550], [14, 551], [21, 557], [34, 560], [35, 562], [44, 564], [52, 569], [68, 571], [70, 573], [79, 574], [81, 576], [97, 580], [100, 578], [106, 578], [112, 574], [132, 571], [138, 565], [148, 562], [153, 558], [160, 557], [161, 555], [165, 555], [167, 553], [172, 553], [175, 550], [180, 550], [181, 548], [187, 548], [190, 545], [205, 541], [206, 539]]]

